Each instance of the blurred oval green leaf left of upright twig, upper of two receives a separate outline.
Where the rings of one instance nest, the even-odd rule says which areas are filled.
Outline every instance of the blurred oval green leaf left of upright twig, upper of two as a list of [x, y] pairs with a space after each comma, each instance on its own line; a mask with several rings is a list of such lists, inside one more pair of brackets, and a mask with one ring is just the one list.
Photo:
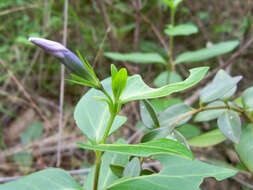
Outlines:
[[30, 143], [34, 140], [38, 140], [43, 132], [43, 125], [40, 121], [34, 122], [28, 129], [24, 131], [21, 136], [21, 142], [23, 144]]

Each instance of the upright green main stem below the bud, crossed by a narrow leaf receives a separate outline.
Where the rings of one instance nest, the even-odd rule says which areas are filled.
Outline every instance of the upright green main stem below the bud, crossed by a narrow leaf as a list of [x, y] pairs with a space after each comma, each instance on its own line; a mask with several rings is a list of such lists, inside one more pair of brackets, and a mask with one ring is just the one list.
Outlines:
[[[106, 129], [105, 129], [104, 136], [101, 140], [101, 144], [105, 144], [116, 115], [117, 115], [116, 113], [111, 114], [110, 119], [109, 119]], [[96, 151], [96, 168], [95, 168], [93, 190], [97, 190], [97, 188], [98, 188], [98, 180], [99, 180], [99, 172], [100, 172], [100, 166], [101, 166], [102, 153], [103, 153], [102, 151]]]

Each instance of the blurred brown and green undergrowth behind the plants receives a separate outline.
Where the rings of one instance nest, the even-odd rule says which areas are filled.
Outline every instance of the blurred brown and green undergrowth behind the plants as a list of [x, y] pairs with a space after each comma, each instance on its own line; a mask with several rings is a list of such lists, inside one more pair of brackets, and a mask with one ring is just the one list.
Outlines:
[[[185, 0], [176, 14], [176, 23], [193, 23], [199, 32], [177, 37], [174, 54], [233, 39], [239, 40], [243, 47], [252, 38], [252, 7], [251, 0]], [[27, 39], [33, 36], [62, 42], [63, 8], [62, 0], [0, 1], [0, 177], [24, 175], [55, 166], [60, 65]], [[169, 8], [157, 0], [70, 0], [67, 47], [80, 51], [93, 64], [100, 79], [109, 76], [110, 64], [115, 63], [118, 67], [126, 67], [131, 75], [141, 74], [152, 86], [155, 76], [164, 69], [161, 65], [113, 62], [104, 52], [156, 52], [168, 60], [165, 44], [169, 44], [169, 37], [164, 33], [168, 24]], [[248, 46], [226, 67], [231, 75], [244, 77], [238, 94], [253, 85], [251, 52], [252, 47]], [[176, 70], [184, 78], [190, 68], [207, 65], [215, 69], [231, 59], [231, 55], [202, 63], [180, 64]], [[75, 146], [76, 141], [84, 138], [72, 117], [75, 104], [86, 90], [68, 82], [65, 85], [61, 167], [68, 170], [87, 168], [93, 163], [92, 152]], [[195, 90], [177, 97], [184, 100]], [[116, 136], [127, 139], [138, 129], [135, 127], [140, 118], [138, 104], [127, 104], [123, 112], [129, 121]], [[201, 130], [205, 131], [207, 125], [200, 126]], [[239, 162], [226, 144], [198, 149], [196, 153], [200, 157]], [[204, 187], [247, 189], [233, 180], [221, 185], [209, 180]]]

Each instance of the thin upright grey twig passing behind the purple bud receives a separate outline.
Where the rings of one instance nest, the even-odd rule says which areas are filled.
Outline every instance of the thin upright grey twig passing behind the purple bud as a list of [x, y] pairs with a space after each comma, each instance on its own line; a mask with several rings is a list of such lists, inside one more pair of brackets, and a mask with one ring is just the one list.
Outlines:
[[[67, 26], [68, 26], [68, 0], [64, 0], [64, 29], [63, 29], [63, 45], [67, 44]], [[61, 87], [60, 87], [60, 105], [59, 105], [59, 131], [58, 131], [58, 147], [57, 147], [57, 163], [56, 166], [61, 165], [61, 136], [63, 128], [63, 101], [64, 101], [64, 73], [65, 67], [61, 64]]]

